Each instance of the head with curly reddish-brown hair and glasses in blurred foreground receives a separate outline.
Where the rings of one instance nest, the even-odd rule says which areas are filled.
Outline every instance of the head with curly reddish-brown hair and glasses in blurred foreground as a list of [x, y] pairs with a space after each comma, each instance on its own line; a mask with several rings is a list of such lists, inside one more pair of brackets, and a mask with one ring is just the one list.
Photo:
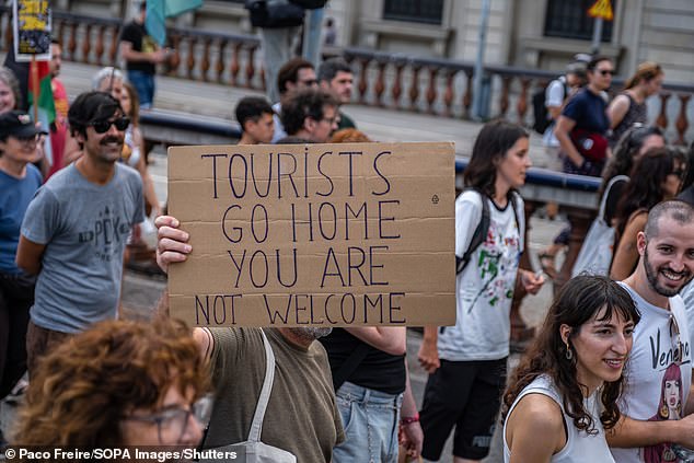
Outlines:
[[183, 323], [103, 322], [41, 360], [13, 443], [195, 447], [208, 391], [209, 372]]

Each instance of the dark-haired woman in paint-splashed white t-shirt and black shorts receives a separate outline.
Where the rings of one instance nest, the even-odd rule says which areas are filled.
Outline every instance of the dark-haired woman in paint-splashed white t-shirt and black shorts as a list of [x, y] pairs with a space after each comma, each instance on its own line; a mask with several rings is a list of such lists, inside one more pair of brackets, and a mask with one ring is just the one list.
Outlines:
[[[456, 459], [482, 460], [488, 453], [479, 441], [490, 438], [506, 384], [517, 279], [531, 293], [544, 282], [519, 268], [525, 218], [517, 189], [531, 165], [528, 148], [522, 127], [491, 121], [479, 131], [465, 169], [467, 189], [455, 200], [455, 254], [467, 262], [456, 277], [456, 323], [425, 327], [419, 349], [429, 372], [420, 413], [427, 460], [439, 460], [453, 427]], [[476, 234], [485, 210], [487, 228]]]

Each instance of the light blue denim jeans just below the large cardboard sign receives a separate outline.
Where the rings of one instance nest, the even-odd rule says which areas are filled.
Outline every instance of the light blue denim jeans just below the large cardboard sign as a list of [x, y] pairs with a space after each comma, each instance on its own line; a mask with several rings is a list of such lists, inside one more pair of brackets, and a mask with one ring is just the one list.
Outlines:
[[396, 463], [403, 394], [386, 394], [346, 382], [335, 395], [345, 441], [333, 449], [333, 463]]

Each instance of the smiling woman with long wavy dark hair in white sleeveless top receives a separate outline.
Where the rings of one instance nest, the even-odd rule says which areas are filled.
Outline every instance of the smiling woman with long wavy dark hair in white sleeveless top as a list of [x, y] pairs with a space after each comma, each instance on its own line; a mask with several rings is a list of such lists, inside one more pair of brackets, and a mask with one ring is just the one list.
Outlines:
[[640, 314], [601, 276], [569, 280], [504, 395], [504, 461], [614, 462], [624, 363]]

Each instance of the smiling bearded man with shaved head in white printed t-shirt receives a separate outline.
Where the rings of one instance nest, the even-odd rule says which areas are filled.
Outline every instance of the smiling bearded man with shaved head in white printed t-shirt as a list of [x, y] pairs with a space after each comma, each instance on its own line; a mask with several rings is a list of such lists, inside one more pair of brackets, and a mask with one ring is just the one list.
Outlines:
[[[637, 247], [636, 270], [622, 285], [634, 298], [641, 323], [634, 329], [634, 347], [624, 368], [622, 420], [608, 432], [608, 441], [617, 463], [680, 461], [678, 445], [694, 449], [692, 345], [679, 296], [694, 271], [692, 206], [670, 200], [653, 207], [637, 235]], [[594, 336], [600, 338], [601, 333]], [[609, 357], [605, 352], [605, 369], [614, 368]], [[680, 369], [681, 380], [668, 381], [675, 377], [673, 368]], [[662, 397], [673, 391], [680, 395], [672, 401], [681, 404], [680, 413], [663, 406]]]

